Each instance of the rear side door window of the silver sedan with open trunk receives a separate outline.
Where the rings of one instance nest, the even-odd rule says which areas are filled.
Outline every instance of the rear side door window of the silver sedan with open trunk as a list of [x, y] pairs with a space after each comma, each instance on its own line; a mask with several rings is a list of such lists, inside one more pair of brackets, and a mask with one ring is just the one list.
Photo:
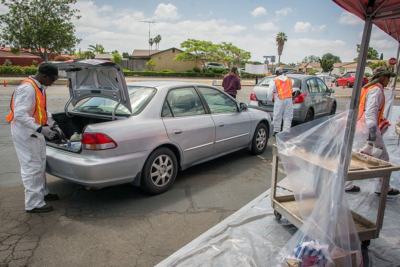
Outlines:
[[205, 114], [194, 87], [176, 88], [168, 92], [162, 106], [162, 117], [182, 117]]

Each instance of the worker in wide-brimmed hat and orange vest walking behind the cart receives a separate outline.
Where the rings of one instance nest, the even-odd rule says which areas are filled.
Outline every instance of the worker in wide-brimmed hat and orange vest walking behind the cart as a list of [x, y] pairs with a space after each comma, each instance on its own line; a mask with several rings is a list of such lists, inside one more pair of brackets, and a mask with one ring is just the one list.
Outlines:
[[[385, 118], [382, 117], [384, 110], [384, 93], [383, 88], [388, 84], [390, 77], [395, 74], [389, 71], [387, 66], [378, 66], [372, 71], [372, 77], [361, 90], [357, 127], [355, 128], [353, 150], [359, 151], [362, 142], [370, 140], [375, 146], [382, 148], [379, 159], [388, 161], [389, 154], [383, 142], [382, 135], [387, 129], [379, 127], [385, 125]], [[387, 124], [386, 124], [387, 125]], [[375, 193], [380, 194], [382, 188], [383, 177], [376, 178]], [[347, 181], [344, 187], [345, 191], [359, 191], [360, 187], [354, 185], [352, 181]], [[396, 195], [398, 189], [391, 188], [389, 185], [387, 194]]]

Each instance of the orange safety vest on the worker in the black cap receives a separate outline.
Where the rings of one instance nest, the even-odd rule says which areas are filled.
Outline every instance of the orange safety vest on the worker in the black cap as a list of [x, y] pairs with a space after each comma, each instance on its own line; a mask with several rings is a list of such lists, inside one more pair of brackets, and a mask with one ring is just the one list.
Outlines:
[[[36, 92], [36, 97], [35, 97], [36, 103], [35, 103], [32, 117], [34, 118], [34, 121], [37, 124], [44, 125], [47, 121], [46, 93], [45, 92], [42, 93], [40, 91], [39, 87], [37, 87], [36, 83], [33, 80], [25, 79], [24, 81], [21, 82], [21, 84], [24, 82], [29, 82], [30, 84], [32, 84], [32, 86]], [[12, 93], [12, 96], [11, 96], [11, 103], [10, 103], [11, 111], [10, 111], [9, 115], [5, 117], [8, 122], [10, 122], [14, 118], [14, 108], [13, 108], [14, 93], [15, 93], [15, 91]]]

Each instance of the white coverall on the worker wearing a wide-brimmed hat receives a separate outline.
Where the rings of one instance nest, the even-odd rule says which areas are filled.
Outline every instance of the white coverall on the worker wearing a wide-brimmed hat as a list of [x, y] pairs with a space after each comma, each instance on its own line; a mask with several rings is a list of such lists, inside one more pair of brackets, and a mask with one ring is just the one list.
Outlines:
[[[380, 129], [377, 126], [377, 119], [379, 116], [379, 107], [382, 106], [382, 103], [384, 103], [384, 94], [383, 91], [379, 88], [383, 89], [382, 84], [376, 83], [376, 86], [369, 89], [369, 91], [366, 93], [365, 97], [365, 111], [362, 114], [362, 116], [359, 118], [357, 121], [357, 127], [355, 128], [355, 133], [354, 133], [354, 141], [353, 141], [353, 150], [354, 151], [359, 151], [359, 147], [361, 146], [362, 142], [366, 142], [368, 136], [369, 136], [369, 128], [370, 127], [376, 127], [376, 140], [375, 140], [375, 146], [380, 146], [382, 147], [382, 153], [379, 156], [379, 159], [388, 161], [389, 160], [389, 154], [387, 153], [386, 146], [384, 145], [382, 135], [380, 133]], [[376, 178], [376, 184], [375, 184], [375, 192], [380, 193], [381, 188], [382, 188], [382, 181], [383, 177]], [[352, 181], [347, 181], [344, 186], [344, 190], [349, 190], [353, 187], [353, 182]], [[391, 190], [391, 187], [389, 185], [389, 189]]]

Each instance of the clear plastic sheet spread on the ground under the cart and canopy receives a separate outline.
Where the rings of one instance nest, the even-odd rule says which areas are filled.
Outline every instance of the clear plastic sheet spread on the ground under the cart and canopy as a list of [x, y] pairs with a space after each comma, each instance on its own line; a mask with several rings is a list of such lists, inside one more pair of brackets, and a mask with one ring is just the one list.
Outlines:
[[[392, 120], [400, 115], [393, 106]], [[394, 126], [388, 131], [389, 161], [400, 165], [400, 146]], [[375, 179], [357, 180], [360, 192], [346, 192], [351, 210], [375, 220], [379, 196], [373, 192]], [[400, 171], [391, 173], [390, 185], [400, 188]], [[270, 190], [183, 246], [157, 266], [273, 266], [275, 257], [297, 228], [282, 217], [275, 219]], [[277, 194], [291, 193], [287, 178], [278, 183]], [[361, 247], [363, 266], [389, 267], [400, 264], [400, 197], [388, 196], [379, 237]]]

